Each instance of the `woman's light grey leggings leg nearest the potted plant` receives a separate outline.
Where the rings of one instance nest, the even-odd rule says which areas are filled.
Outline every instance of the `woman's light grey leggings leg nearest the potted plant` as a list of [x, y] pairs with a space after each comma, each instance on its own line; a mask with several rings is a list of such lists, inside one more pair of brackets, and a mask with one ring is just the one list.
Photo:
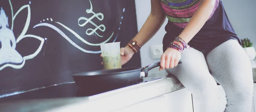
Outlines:
[[248, 112], [244, 109], [250, 108], [253, 95], [252, 68], [239, 43], [234, 39], [224, 42], [210, 51], [206, 60], [210, 73], [226, 93], [227, 108], [236, 109], [227, 112], [240, 112], [239, 106]]

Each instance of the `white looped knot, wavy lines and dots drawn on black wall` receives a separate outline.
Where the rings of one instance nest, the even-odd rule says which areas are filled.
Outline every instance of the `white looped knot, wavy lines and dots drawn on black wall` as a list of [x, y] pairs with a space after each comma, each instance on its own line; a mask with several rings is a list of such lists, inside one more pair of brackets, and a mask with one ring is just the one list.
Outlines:
[[[90, 0], [89, 0], [90, 1]], [[125, 8], [123, 8], [123, 12], [124, 12]], [[90, 9], [87, 9], [86, 10], [86, 13], [87, 14], [93, 14], [92, 17], [90, 18], [87, 18], [87, 17], [79, 17], [78, 19], [78, 25], [81, 26], [81, 27], [84, 27], [85, 25], [87, 25], [88, 23], [92, 24], [93, 26], [95, 26], [96, 28], [88, 28], [86, 30], [86, 34], [88, 36], [91, 36], [93, 34], [96, 34], [97, 36], [99, 37], [103, 37], [102, 35], [99, 35], [97, 33], [97, 31], [102, 31], [104, 32], [106, 27], [105, 25], [101, 24], [101, 25], [96, 25], [92, 20], [93, 18], [97, 18], [98, 20], [102, 21], [104, 20], [104, 14], [102, 13], [95, 13], [93, 11], [93, 5], [92, 5], [92, 2], [90, 1]], [[47, 18], [48, 19], [48, 18]], [[122, 18], [123, 19], [123, 16]], [[84, 20], [85, 22], [80, 24], [80, 22]], [[44, 22], [45, 20], [43, 20]], [[51, 18], [51, 21], [52, 21], [52, 18]], [[42, 22], [42, 21], [41, 21]], [[57, 23], [58, 25], [61, 25], [63, 28], [65, 28], [67, 31], [70, 31], [70, 33], [72, 33], [76, 38], [78, 38], [79, 40], [81, 40], [81, 42], [84, 42], [84, 44], [87, 44], [87, 45], [90, 45], [90, 46], [100, 46], [101, 44], [104, 44], [104, 43], [107, 43], [111, 38], [113, 38], [113, 35], [115, 34], [114, 32], [112, 32], [112, 34], [103, 42], [100, 42], [100, 43], [90, 43], [88, 41], [86, 41], [84, 38], [82, 38], [79, 34], [77, 34], [75, 31], [73, 31], [72, 29], [70, 29], [69, 27], [67, 27], [66, 25], [62, 24], [61, 22], [54, 22], [54, 23]], [[35, 25], [33, 28], [36, 28], [36, 27], [39, 27], [39, 26], [46, 26], [46, 27], [49, 27], [49, 28], [52, 28], [53, 30], [57, 31], [61, 36], [64, 37], [64, 39], [66, 39], [68, 42], [70, 42], [71, 45], [73, 45], [74, 47], [78, 48], [79, 50], [85, 52], [85, 53], [101, 53], [100, 50], [98, 51], [92, 51], [92, 50], [86, 50], [84, 48], [81, 48], [79, 45], [77, 45], [75, 42], [73, 42], [63, 31], [61, 31], [59, 28], [57, 28], [55, 25], [52, 25], [50, 23], [39, 23], [37, 25]], [[120, 28], [119, 28], [120, 30]], [[116, 41], [117, 39], [117, 36], [118, 36], [118, 33], [116, 33], [116, 37], [115, 39], [113, 40], [113, 42]]]

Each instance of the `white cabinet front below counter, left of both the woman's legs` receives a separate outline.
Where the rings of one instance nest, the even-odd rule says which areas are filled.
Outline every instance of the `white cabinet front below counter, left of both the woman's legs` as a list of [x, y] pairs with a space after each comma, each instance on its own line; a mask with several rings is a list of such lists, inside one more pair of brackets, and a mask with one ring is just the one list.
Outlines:
[[193, 112], [192, 95], [184, 88], [114, 112]]

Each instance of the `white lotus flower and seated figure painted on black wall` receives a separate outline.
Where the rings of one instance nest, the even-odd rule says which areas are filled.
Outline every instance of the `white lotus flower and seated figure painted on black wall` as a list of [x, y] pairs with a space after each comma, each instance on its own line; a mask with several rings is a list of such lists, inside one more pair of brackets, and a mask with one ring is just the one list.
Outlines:
[[[44, 38], [40, 36], [32, 35], [32, 34], [26, 34], [29, 28], [29, 23], [31, 19], [30, 6], [29, 5], [22, 6], [14, 14], [11, 0], [9, 0], [9, 3], [12, 11], [12, 25], [11, 25], [12, 27], [11, 28], [9, 28], [8, 17], [6, 16], [4, 9], [2, 7], [0, 9], [0, 43], [2, 46], [0, 48], [0, 65], [1, 65], [0, 70], [3, 70], [6, 67], [12, 67], [15, 69], [22, 68], [26, 60], [33, 59], [35, 56], [37, 56], [44, 45]], [[27, 8], [27, 11], [28, 11], [27, 19], [21, 34], [16, 39], [13, 34], [14, 21], [17, 15], [20, 13], [20, 11], [22, 11], [24, 8]], [[28, 56], [22, 57], [20, 53], [18, 53], [17, 50], [15, 50], [15, 48], [16, 48], [16, 44], [18, 44], [20, 40], [24, 38], [38, 39], [39, 41], [41, 41], [41, 44], [38, 46], [38, 49], [34, 53]]]

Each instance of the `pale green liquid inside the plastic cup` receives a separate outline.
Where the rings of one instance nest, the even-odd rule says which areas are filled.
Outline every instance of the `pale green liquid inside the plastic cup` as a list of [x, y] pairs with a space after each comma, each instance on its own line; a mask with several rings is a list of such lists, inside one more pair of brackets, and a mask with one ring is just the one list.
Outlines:
[[122, 68], [121, 65], [121, 56], [103, 56], [103, 63], [104, 63], [104, 69], [116, 69], [116, 68]]

